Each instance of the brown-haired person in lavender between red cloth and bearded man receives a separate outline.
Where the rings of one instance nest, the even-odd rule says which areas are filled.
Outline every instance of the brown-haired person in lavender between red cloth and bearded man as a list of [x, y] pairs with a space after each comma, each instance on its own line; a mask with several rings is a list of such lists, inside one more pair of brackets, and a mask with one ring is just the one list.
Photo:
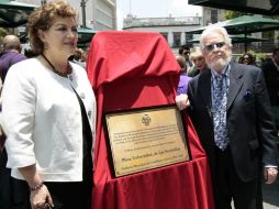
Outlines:
[[181, 95], [181, 94], [187, 94], [188, 90], [188, 82], [191, 79], [190, 77], [187, 76], [186, 74], [186, 69], [185, 69], [185, 65], [186, 65], [186, 61], [185, 57], [181, 55], [178, 55], [176, 57], [177, 63], [179, 64], [181, 72], [180, 72], [180, 77], [179, 77], [179, 84], [177, 87], [177, 95]]

